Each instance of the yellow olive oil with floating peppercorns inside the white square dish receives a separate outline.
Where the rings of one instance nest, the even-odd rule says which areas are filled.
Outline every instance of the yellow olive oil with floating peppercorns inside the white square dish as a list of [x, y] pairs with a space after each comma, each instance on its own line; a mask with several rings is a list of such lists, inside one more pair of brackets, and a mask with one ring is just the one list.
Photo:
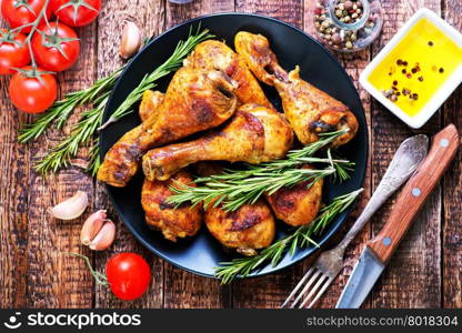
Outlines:
[[408, 115], [415, 115], [462, 65], [462, 48], [420, 19], [370, 73], [368, 81]]

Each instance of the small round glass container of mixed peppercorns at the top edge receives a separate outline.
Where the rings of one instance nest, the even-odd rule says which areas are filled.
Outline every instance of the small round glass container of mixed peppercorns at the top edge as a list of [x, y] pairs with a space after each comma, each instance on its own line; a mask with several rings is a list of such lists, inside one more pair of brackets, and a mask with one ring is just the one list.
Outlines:
[[317, 0], [314, 28], [319, 40], [339, 52], [366, 48], [379, 37], [383, 12], [379, 0]]

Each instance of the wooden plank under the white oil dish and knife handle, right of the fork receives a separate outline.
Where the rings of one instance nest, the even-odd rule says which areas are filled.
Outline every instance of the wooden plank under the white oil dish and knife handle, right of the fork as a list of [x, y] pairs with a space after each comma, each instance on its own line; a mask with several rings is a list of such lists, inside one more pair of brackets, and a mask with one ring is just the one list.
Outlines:
[[[421, 7], [440, 12], [439, 0], [382, 1], [385, 18], [383, 32], [373, 54], [390, 40], [396, 30]], [[376, 101], [372, 103], [372, 183], [376, 188], [393, 152], [413, 132]], [[419, 132], [436, 132], [441, 127], [439, 115]], [[394, 201], [394, 199], [393, 199]], [[386, 220], [392, 202], [373, 219], [373, 234]], [[441, 304], [441, 188], [434, 190], [425, 206], [415, 218], [401, 246], [391, 259], [381, 281], [372, 292], [373, 307], [439, 307]]]

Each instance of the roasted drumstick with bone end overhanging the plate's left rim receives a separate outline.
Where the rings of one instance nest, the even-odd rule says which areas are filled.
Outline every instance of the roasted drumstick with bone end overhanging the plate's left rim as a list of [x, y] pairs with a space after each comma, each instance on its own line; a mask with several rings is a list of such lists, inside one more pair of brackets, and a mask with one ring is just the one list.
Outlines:
[[181, 68], [157, 112], [127, 132], [106, 154], [98, 180], [124, 186], [151, 148], [214, 128], [235, 111], [234, 85], [219, 71]]

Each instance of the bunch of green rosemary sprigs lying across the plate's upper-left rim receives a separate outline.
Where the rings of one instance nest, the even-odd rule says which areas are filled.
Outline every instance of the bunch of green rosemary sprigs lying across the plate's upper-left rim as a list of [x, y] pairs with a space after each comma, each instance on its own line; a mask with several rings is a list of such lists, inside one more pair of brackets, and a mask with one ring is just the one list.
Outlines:
[[[140, 84], [129, 94], [125, 101], [111, 115], [110, 120], [102, 127], [102, 114], [109, 99], [110, 89], [117, 81], [120, 73], [117, 77], [113, 74], [114, 77], [102, 79], [98, 88], [90, 88], [90, 92], [81, 91], [71, 94], [70, 98], [67, 99], [68, 102], [66, 103], [66, 100], [63, 102], [67, 107], [60, 104], [60, 109], [53, 109], [54, 115], [50, 115], [50, 119], [43, 120], [41, 124], [31, 124], [27, 132], [24, 130], [24, 132], [21, 133], [21, 135], [23, 135], [23, 140], [27, 139], [26, 141], [28, 141], [38, 138], [47, 129], [47, 127], [49, 127], [49, 124], [57, 119], [57, 124], [62, 127], [67, 117], [69, 117], [63, 113], [72, 112], [73, 108], [78, 104], [76, 100], [87, 98], [87, 100], [83, 101], [83, 104], [88, 102], [92, 102], [93, 104], [93, 108], [84, 111], [80, 121], [72, 127], [71, 134], [57, 145], [52, 147], [40, 160], [36, 162], [34, 170], [40, 173], [47, 173], [49, 171], [56, 172], [58, 169], [67, 167], [70, 163], [71, 159], [77, 155], [79, 147], [91, 144], [92, 147], [90, 148], [87, 170], [94, 175], [100, 165], [98, 147], [99, 138], [94, 138], [93, 135], [98, 132], [98, 129], [103, 128], [130, 113], [132, 105], [139, 101], [145, 90], [154, 88], [157, 80], [180, 68], [183, 59], [198, 43], [213, 37], [214, 36], [210, 34], [207, 29], [200, 31], [199, 27], [195, 33], [192, 33], [191, 29], [188, 39], [180, 41], [172, 56], [153, 72], [143, 78]], [[119, 71], [122, 71], [122, 69], [119, 69]], [[106, 91], [106, 89], [108, 89], [108, 91]]]

